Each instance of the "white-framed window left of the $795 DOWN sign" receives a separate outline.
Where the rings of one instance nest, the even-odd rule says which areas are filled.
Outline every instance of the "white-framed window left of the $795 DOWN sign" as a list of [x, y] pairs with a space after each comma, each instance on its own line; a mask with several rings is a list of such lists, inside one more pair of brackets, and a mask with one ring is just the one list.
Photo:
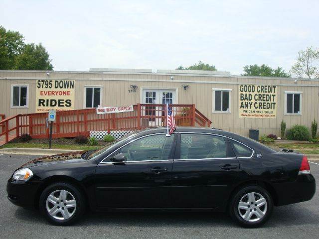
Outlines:
[[27, 108], [28, 107], [28, 85], [11, 85], [11, 107]]

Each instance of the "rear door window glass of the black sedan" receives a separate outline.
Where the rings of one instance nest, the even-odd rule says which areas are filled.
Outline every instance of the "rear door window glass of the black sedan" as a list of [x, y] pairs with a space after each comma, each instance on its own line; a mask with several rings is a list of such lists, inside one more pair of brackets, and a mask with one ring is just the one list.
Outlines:
[[226, 142], [223, 137], [192, 133], [182, 133], [180, 137], [180, 159], [226, 157]]

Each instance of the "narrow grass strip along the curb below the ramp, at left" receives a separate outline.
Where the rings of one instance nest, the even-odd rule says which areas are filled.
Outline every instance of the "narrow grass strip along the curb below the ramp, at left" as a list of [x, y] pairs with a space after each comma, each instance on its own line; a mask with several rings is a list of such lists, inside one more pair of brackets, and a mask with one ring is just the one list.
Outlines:
[[[55, 149], [73, 149], [73, 150], [92, 150], [97, 149], [102, 146], [89, 146], [87, 144], [77, 144], [77, 145], [68, 145], [68, 144], [56, 144], [52, 143], [51, 148]], [[47, 143], [6, 143], [0, 148], [49, 148]]]

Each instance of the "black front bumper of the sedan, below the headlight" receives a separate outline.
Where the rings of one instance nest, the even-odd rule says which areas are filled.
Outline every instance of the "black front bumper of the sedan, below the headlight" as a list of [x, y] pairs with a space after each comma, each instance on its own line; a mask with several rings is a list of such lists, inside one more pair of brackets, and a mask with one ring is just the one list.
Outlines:
[[6, 184], [7, 198], [17, 206], [34, 208], [38, 186], [39, 182], [20, 181], [10, 178]]

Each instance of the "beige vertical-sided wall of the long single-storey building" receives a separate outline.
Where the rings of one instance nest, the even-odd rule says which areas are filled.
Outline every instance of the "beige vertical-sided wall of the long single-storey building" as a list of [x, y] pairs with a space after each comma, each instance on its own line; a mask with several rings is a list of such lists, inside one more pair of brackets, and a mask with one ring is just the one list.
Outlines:
[[[171, 80], [171, 76], [174, 77]], [[304, 124], [309, 128], [313, 119], [319, 119], [319, 81], [289, 78], [244, 77], [231, 75], [205, 75], [183, 73], [140, 73], [140, 72], [50, 72], [45, 71], [0, 71], [0, 114], [6, 117], [16, 114], [35, 113], [35, 87], [37, 79], [75, 80], [75, 108], [84, 108], [84, 87], [102, 86], [102, 106], [125, 106], [141, 103], [142, 88], [176, 88], [177, 104], [195, 104], [196, 108], [212, 121], [212, 126], [248, 135], [248, 129], [257, 128], [260, 135], [275, 133], [280, 135], [280, 123], [284, 119], [287, 128], [294, 124]], [[28, 84], [28, 109], [10, 107], [11, 85]], [[184, 90], [182, 85], [189, 85]], [[239, 118], [240, 84], [277, 86], [276, 119]], [[137, 85], [136, 93], [129, 93], [130, 85]], [[212, 88], [232, 89], [231, 113], [212, 112]], [[302, 114], [285, 115], [285, 91], [302, 94]]]

